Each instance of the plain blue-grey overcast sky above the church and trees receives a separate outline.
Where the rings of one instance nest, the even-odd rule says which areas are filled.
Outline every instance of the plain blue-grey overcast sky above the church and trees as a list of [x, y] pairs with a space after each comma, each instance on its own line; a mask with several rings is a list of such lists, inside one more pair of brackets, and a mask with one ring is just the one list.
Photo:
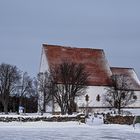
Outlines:
[[0, 63], [35, 76], [43, 43], [102, 48], [140, 77], [140, 0], [0, 0]]

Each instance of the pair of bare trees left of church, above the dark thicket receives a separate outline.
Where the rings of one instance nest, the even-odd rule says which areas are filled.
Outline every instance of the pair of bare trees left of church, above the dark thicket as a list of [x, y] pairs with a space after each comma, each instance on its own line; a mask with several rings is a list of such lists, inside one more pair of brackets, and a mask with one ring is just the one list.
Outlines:
[[21, 106], [23, 98], [31, 97], [33, 94], [35, 96], [32, 83], [33, 80], [27, 72], [22, 73], [16, 66], [10, 64], [0, 65], [0, 103], [5, 114], [8, 114], [10, 99], [18, 98]]

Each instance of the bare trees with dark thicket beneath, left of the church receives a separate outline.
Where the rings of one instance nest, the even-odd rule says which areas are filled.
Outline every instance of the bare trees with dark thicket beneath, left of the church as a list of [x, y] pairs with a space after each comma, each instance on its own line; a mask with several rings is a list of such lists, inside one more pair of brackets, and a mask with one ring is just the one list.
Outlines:
[[35, 78], [22, 72], [16, 66], [0, 64], [0, 112], [37, 112]]

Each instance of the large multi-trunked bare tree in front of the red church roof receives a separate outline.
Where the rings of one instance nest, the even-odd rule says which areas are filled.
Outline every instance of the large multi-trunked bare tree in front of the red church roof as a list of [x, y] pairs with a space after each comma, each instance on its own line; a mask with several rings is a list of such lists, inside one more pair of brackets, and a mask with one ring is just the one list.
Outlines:
[[76, 111], [75, 98], [84, 95], [89, 74], [83, 64], [69, 61], [51, 68], [55, 91], [53, 96], [61, 108], [62, 114], [72, 114]]

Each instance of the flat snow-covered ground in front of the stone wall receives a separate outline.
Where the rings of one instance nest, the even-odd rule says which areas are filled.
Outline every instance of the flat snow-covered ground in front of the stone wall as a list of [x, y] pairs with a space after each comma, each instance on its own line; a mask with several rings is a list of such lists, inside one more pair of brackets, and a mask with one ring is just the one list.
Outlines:
[[105, 125], [95, 118], [78, 122], [0, 122], [1, 140], [138, 140], [140, 125]]

